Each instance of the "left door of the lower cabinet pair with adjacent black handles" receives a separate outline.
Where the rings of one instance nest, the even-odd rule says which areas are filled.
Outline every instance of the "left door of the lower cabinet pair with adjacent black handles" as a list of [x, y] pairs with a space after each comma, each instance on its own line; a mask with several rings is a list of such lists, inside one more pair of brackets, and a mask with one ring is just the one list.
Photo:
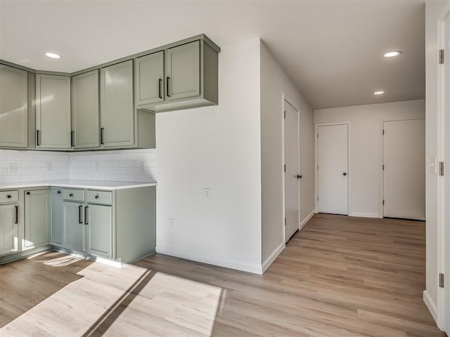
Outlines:
[[83, 221], [84, 204], [63, 201], [64, 246], [75, 251], [86, 251]]

